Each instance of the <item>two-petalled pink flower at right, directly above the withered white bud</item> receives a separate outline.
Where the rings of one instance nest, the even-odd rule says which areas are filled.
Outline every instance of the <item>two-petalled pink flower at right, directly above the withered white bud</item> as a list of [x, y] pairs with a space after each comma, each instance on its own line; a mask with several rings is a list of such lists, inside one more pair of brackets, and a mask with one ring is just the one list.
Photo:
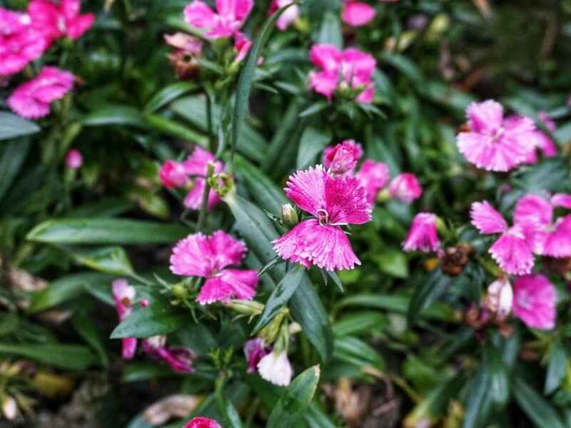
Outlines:
[[512, 228], [500, 213], [486, 200], [472, 204], [470, 211], [472, 224], [486, 235], [501, 233], [500, 238], [490, 247], [490, 254], [498, 265], [511, 275], [530, 273], [534, 265], [532, 231], [525, 226], [515, 224]]

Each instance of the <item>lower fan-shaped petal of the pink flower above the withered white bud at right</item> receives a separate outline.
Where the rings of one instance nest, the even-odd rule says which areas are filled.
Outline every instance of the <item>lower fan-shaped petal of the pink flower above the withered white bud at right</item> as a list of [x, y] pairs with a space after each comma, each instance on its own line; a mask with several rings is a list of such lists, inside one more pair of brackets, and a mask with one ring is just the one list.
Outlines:
[[518, 225], [503, 233], [489, 251], [502, 270], [510, 275], [530, 273], [534, 265], [532, 248]]

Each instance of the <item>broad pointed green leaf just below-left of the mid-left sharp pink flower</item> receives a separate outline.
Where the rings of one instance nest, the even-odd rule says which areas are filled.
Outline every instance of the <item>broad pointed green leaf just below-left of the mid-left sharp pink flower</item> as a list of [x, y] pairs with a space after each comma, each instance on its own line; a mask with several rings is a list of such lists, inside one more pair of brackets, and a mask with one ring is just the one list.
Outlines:
[[111, 332], [111, 339], [166, 335], [191, 321], [190, 313], [181, 312], [168, 301], [154, 300], [148, 307], [134, 310]]

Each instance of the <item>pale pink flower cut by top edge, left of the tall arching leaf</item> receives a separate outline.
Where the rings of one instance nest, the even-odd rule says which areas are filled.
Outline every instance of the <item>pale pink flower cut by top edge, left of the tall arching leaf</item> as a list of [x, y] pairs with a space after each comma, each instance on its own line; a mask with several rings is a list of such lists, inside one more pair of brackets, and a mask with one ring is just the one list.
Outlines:
[[215, 13], [203, 1], [194, 0], [184, 9], [184, 19], [189, 25], [206, 30], [206, 39], [226, 39], [241, 29], [253, 4], [253, 0], [216, 0]]

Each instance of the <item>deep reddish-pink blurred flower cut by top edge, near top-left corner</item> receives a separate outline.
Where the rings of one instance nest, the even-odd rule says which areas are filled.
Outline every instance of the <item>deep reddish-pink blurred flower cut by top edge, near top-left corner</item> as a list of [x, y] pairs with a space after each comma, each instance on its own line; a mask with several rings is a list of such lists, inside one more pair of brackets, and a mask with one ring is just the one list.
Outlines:
[[80, 0], [61, 0], [59, 4], [51, 0], [31, 0], [28, 13], [36, 29], [42, 31], [50, 41], [68, 36], [79, 39], [91, 28], [94, 14], [79, 14]]

